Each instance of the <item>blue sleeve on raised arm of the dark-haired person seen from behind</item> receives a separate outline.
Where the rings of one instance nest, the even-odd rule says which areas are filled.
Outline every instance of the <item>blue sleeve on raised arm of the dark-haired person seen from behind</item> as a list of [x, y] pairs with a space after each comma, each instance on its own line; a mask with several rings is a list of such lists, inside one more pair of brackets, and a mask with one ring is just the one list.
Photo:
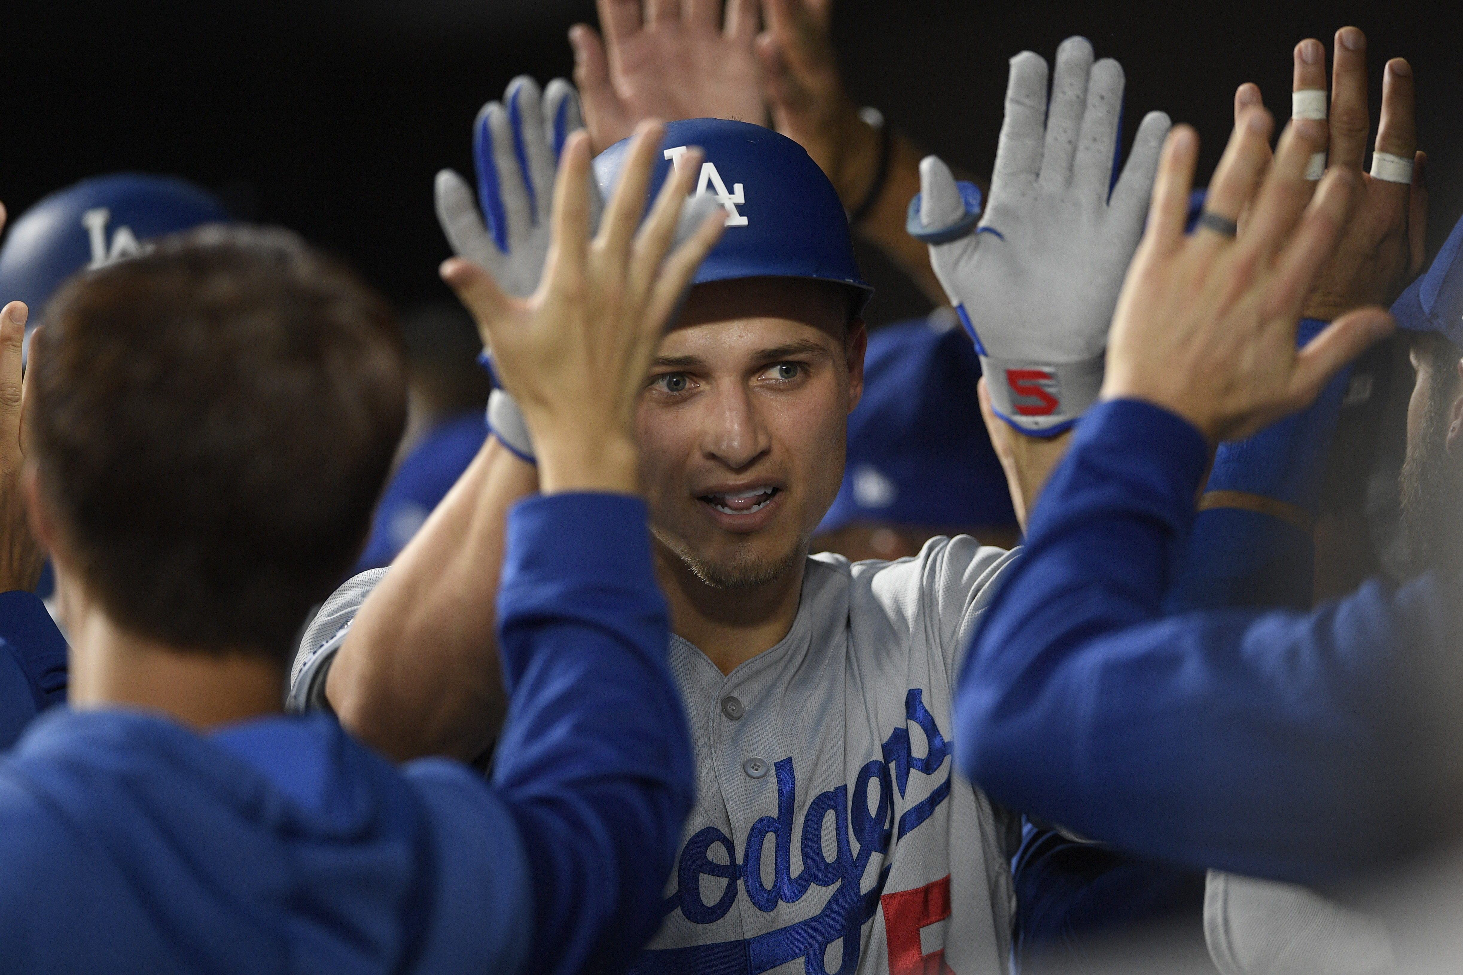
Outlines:
[[525, 971], [622, 971], [660, 922], [695, 788], [644, 503], [515, 506], [497, 618], [511, 703], [493, 784], [533, 874]]

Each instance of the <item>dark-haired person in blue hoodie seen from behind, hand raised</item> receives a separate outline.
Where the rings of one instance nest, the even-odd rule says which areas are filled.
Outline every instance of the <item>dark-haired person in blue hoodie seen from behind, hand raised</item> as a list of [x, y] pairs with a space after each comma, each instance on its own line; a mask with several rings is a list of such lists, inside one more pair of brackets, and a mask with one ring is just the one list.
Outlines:
[[[556, 244], [581, 259], [490, 327], [528, 376], [541, 472], [506, 523], [514, 713], [492, 785], [278, 713], [281, 650], [350, 566], [401, 434], [383, 303], [249, 228], [170, 238], [51, 303], [25, 491], [75, 665], [72, 707], [0, 757], [7, 971], [576, 972], [650, 936], [692, 767], [632, 417], [720, 232], [670, 250], [677, 177], [631, 234], [660, 134], [631, 149], [593, 241], [573, 221], [587, 140], [569, 146]], [[23, 320], [6, 306], [7, 371]]]

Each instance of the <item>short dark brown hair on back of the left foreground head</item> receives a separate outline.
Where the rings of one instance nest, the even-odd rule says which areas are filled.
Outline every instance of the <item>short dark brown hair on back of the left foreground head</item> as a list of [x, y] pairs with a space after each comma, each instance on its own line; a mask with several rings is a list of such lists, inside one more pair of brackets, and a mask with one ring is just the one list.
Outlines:
[[139, 636], [284, 659], [401, 437], [385, 303], [294, 234], [208, 227], [72, 279], [34, 352], [57, 561]]

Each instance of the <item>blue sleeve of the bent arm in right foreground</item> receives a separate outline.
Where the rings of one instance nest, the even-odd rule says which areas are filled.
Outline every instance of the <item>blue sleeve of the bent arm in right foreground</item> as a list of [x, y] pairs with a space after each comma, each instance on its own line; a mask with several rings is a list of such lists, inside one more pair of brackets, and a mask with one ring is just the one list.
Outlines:
[[1206, 459], [1162, 409], [1088, 412], [961, 675], [961, 766], [1144, 857], [1302, 883], [1390, 862], [1454, 767], [1429, 748], [1429, 690], [1457, 686], [1445, 586], [1165, 615]]

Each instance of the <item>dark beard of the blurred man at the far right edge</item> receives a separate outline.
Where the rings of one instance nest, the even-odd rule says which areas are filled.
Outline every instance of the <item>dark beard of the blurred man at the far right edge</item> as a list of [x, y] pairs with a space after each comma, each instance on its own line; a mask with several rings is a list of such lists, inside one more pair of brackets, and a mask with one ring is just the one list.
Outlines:
[[1450, 409], [1450, 396], [1431, 399], [1402, 465], [1402, 526], [1413, 573], [1463, 567], [1463, 463], [1447, 452]]

